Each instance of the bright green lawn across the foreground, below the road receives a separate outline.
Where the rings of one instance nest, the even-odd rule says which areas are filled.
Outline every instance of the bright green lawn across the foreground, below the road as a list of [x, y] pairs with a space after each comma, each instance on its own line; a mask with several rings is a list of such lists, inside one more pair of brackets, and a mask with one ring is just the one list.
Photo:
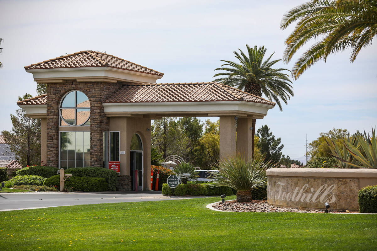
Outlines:
[[[235, 196], [230, 196], [234, 199]], [[377, 215], [228, 213], [219, 198], [0, 212], [2, 250], [377, 250]]]

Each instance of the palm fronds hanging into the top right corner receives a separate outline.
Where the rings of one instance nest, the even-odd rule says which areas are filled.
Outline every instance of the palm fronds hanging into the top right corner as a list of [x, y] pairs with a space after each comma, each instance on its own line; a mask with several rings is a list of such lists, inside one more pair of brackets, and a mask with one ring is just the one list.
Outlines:
[[329, 54], [351, 48], [354, 62], [361, 48], [372, 43], [377, 34], [376, 0], [312, 0], [284, 14], [280, 28], [298, 21], [285, 40], [284, 61], [310, 40], [318, 40], [297, 60], [292, 77], [297, 79], [315, 62]]

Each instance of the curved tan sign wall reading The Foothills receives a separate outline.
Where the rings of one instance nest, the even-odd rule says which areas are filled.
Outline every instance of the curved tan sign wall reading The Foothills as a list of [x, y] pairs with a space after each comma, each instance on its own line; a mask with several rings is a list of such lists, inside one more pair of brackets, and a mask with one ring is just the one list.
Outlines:
[[331, 210], [359, 210], [357, 193], [377, 184], [377, 169], [274, 168], [267, 170], [267, 198], [272, 205]]

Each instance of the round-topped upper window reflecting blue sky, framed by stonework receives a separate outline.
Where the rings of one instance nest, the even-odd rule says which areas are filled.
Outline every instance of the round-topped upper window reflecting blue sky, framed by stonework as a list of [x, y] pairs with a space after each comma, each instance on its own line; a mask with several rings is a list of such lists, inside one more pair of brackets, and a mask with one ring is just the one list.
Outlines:
[[90, 125], [90, 103], [82, 91], [70, 91], [61, 99], [60, 125]]

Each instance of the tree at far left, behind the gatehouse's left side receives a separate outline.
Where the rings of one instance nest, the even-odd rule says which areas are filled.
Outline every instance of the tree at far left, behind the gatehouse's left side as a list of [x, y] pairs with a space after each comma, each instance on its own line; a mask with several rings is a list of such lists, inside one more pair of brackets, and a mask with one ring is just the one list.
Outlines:
[[[18, 100], [32, 97], [25, 94]], [[2, 131], [4, 139], [8, 142], [11, 151], [16, 155], [16, 160], [22, 166], [40, 164], [41, 161], [41, 120], [26, 116], [25, 110], [17, 109], [16, 116], [11, 114], [12, 130]]]

